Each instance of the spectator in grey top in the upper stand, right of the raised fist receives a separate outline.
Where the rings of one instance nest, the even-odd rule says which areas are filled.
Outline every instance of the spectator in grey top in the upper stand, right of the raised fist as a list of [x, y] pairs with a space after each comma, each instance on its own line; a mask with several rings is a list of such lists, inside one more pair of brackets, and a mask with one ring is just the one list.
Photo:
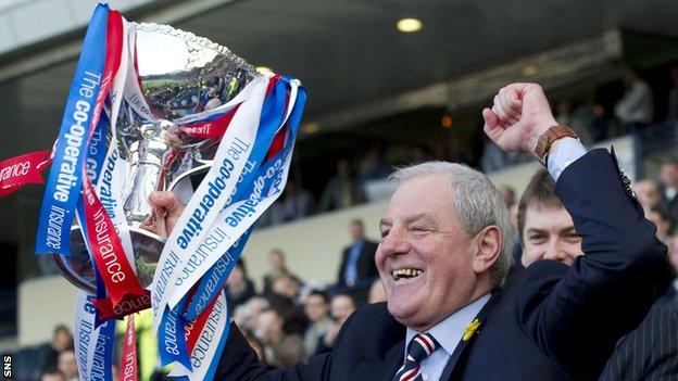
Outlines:
[[624, 82], [626, 92], [615, 104], [614, 114], [624, 128], [640, 130], [652, 123], [652, 89], [631, 67], [626, 68]]

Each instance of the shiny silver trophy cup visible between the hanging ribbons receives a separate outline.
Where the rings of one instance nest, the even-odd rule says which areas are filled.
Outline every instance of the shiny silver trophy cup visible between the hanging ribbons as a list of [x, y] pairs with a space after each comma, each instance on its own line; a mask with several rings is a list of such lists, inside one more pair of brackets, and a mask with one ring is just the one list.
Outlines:
[[[136, 76], [147, 112], [139, 112], [138, 100], [124, 99], [116, 137], [129, 165], [122, 201], [137, 277], [147, 287], [164, 246], [163, 238], [140, 228], [154, 218], [148, 203], [150, 193], [172, 190], [179, 180], [206, 172], [219, 142], [218, 138], [188, 138], [173, 120], [225, 104], [260, 74], [227, 48], [205, 38], [167, 25], [128, 25], [136, 34]], [[96, 292], [92, 262], [78, 226], [71, 231], [71, 256], [54, 258], [70, 282]]]

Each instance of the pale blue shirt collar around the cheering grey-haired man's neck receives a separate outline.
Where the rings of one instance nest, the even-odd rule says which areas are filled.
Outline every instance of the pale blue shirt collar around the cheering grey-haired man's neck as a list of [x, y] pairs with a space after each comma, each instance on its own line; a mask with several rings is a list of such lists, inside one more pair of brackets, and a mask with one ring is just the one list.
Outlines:
[[[460, 340], [462, 340], [462, 336], [466, 331], [466, 326], [473, 321], [489, 300], [490, 293], [488, 292], [464, 308], [448, 316], [444, 320], [434, 326], [427, 332], [436, 338], [436, 340], [440, 343], [440, 346], [448, 353], [448, 355], [452, 355], [454, 348], [456, 348], [456, 345]], [[407, 327], [405, 343], [410, 343], [410, 341], [412, 341], [417, 333], [420, 332]], [[407, 345], [405, 345], [405, 355], [406, 353]]]

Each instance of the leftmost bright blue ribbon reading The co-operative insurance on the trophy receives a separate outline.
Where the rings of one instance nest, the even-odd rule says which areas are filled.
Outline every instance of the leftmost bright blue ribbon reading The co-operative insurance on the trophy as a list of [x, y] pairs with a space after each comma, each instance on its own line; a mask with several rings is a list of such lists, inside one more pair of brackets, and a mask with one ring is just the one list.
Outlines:
[[83, 183], [81, 170], [89, 124], [105, 61], [108, 14], [108, 5], [97, 5], [85, 35], [45, 188], [36, 234], [36, 254], [71, 254], [71, 225]]

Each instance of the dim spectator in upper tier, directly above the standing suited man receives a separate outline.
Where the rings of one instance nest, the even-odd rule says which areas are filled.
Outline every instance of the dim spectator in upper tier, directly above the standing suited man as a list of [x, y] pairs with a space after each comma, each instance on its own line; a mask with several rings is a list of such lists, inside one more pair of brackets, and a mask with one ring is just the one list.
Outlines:
[[347, 158], [340, 158], [337, 161], [337, 175], [327, 181], [321, 196], [321, 212], [357, 205], [364, 200], [359, 182], [351, 176], [351, 164]]

